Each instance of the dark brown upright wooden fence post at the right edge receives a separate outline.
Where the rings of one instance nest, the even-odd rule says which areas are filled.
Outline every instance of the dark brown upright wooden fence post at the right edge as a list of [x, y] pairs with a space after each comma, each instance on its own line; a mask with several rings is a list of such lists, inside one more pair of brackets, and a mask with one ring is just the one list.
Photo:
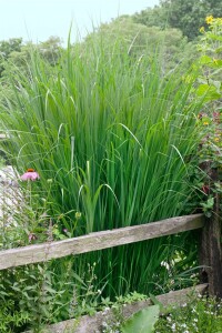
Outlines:
[[[219, 181], [219, 171], [210, 168], [208, 172], [212, 183]], [[222, 299], [222, 216], [220, 193], [214, 194], [214, 206], [211, 218], [205, 218], [200, 244], [201, 281], [209, 283], [209, 294]]]

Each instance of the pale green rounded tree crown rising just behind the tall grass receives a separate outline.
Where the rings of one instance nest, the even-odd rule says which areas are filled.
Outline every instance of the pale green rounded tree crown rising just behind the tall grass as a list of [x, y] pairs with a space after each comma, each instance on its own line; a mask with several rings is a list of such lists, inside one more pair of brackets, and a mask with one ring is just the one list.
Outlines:
[[179, 62], [191, 59], [192, 46], [182, 36], [179, 29], [161, 29], [135, 23], [132, 17], [120, 17], [111, 23], [102, 24], [95, 32], [85, 38], [101, 40], [103, 50], [114, 49], [117, 42], [122, 48], [128, 48], [129, 56], [134, 59], [140, 57], [160, 56], [163, 72], [169, 71]]

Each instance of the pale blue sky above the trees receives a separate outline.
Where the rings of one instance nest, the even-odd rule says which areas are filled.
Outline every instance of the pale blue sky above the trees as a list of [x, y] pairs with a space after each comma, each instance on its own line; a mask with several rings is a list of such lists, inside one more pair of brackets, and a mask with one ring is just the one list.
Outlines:
[[65, 42], [71, 23], [74, 40], [92, 26], [154, 4], [159, 0], [0, 0], [0, 41], [21, 37], [36, 43], [58, 36]]

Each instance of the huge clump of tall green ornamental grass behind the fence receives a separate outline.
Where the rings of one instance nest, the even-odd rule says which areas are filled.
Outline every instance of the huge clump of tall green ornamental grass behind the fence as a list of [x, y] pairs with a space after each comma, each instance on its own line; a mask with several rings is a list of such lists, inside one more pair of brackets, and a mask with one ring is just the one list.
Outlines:
[[[78, 236], [188, 212], [200, 105], [182, 71], [163, 73], [160, 62], [158, 51], [132, 58], [122, 40], [109, 47], [101, 39], [69, 46], [54, 68], [32, 52], [26, 73], [13, 69], [13, 93], [1, 105], [10, 138], [4, 150], [20, 173], [39, 172], [39, 205], [47, 198], [47, 214], [61, 233]], [[161, 263], [186, 239], [80, 255], [73, 269], [82, 276], [95, 262], [107, 295], [145, 293], [164, 283], [169, 272]]]

